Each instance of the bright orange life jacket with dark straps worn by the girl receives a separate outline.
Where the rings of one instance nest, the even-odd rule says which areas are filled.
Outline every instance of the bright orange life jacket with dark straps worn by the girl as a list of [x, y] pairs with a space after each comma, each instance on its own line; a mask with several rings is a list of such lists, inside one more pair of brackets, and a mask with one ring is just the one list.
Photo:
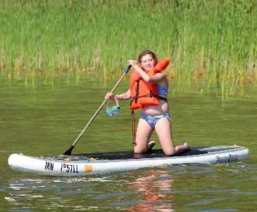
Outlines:
[[[168, 64], [169, 60], [160, 60], [147, 74], [154, 76], [157, 73], [162, 72]], [[166, 100], [165, 98], [158, 96], [156, 83], [144, 81], [135, 70], [132, 71], [130, 76], [130, 90], [131, 110], [142, 109], [142, 107], [149, 105], [158, 105], [159, 99]]]

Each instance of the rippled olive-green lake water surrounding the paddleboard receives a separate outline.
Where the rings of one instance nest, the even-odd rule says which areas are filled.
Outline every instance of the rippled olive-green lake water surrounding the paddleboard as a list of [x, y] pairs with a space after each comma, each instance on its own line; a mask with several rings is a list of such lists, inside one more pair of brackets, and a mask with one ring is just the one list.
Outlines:
[[[169, 97], [177, 144], [187, 140], [191, 146], [245, 146], [250, 157], [243, 162], [170, 165], [81, 178], [9, 168], [7, 160], [14, 152], [41, 156], [67, 150], [110, 84], [0, 87], [0, 211], [256, 210], [256, 99], [221, 101], [197, 93]], [[97, 116], [73, 153], [132, 149], [128, 102], [120, 105], [118, 117], [105, 117], [104, 110]]]

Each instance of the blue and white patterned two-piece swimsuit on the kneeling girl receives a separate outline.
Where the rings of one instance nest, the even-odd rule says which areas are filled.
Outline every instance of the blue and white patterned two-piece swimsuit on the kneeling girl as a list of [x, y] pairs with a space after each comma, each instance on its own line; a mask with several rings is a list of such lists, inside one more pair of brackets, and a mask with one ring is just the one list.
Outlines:
[[[163, 87], [161, 85], [157, 84], [157, 90], [158, 90], [158, 95], [162, 96], [162, 97], [166, 97], [168, 94], [168, 89], [166, 87]], [[170, 116], [169, 113], [164, 113], [161, 115], [157, 115], [157, 116], [149, 116], [146, 115], [145, 113], [141, 113], [140, 117], [144, 120], [147, 121], [147, 123], [154, 129], [155, 124], [158, 120], [162, 119], [162, 118], [167, 118], [170, 121]]]

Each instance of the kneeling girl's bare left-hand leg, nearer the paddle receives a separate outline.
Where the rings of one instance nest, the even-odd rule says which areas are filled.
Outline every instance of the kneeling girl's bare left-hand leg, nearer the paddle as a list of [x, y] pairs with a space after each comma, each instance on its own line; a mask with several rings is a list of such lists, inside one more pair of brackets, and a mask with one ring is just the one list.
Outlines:
[[153, 128], [144, 119], [139, 119], [136, 130], [136, 145], [134, 153], [143, 154], [149, 150], [148, 142], [153, 133]]

